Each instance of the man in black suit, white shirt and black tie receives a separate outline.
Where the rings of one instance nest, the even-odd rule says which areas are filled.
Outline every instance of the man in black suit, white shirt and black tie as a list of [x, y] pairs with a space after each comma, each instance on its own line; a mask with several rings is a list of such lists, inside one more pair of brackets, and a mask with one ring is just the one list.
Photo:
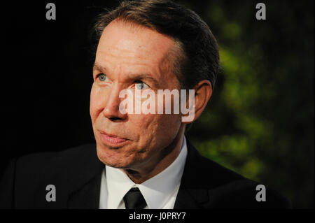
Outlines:
[[[259, 183], [202, 157], [184, 136], [207, 105], [219, 68], [216, 39], [198, 15], [172, 1], [124, 1], [99, 16], [95, 30], [90, 115], [96, 145], [13, 160], [1, 182], [1, 206], [288, 207], [272, 189], [258, 197]], [[126, 89], [129, 99], [122, 96]], [[166, 89], [173, 97], [155, 100]], [[193, 106], [190, 94], [176, 98], [181, 89], [193, 89]], [[137, 92], [151, 96], [137, 98]], [[141, 110], [146, 101], [151, 113]], [[183, 109], [166, 112], [167, 103], [175, 108], [179, 101], [192, 119]]]

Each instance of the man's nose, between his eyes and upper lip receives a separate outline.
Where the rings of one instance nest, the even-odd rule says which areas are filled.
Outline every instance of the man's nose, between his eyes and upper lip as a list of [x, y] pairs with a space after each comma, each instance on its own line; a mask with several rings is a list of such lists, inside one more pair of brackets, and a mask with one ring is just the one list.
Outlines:
[[119, 105], [122, 100], [119, 98], [119, 92], [120, 90], [118, 87], [111, 91], [103, 110], [104, 117], [108, 118], [112, 122], [119, 122], [127, 118], [127, 114], [120, 113], [119, 110]]

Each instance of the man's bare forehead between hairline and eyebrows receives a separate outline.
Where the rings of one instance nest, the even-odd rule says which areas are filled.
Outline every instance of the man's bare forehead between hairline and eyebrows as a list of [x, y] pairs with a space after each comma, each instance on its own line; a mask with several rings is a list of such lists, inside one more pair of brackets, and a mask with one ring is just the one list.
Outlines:
[[103, 31], [96, 60], [97, 64], [106, 66], [160, 66], [168, 59], [174, 45], [169, 36], [137, 24], [114, 20]]

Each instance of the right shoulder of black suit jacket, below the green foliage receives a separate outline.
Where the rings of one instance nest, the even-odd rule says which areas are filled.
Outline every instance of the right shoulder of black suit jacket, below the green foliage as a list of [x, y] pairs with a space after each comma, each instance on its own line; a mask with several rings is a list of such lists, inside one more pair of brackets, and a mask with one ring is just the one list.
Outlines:
[[290, 208], [285, 196], [207, 157], [190, 144], [181, 189], [202, 203], [200, 208]]

